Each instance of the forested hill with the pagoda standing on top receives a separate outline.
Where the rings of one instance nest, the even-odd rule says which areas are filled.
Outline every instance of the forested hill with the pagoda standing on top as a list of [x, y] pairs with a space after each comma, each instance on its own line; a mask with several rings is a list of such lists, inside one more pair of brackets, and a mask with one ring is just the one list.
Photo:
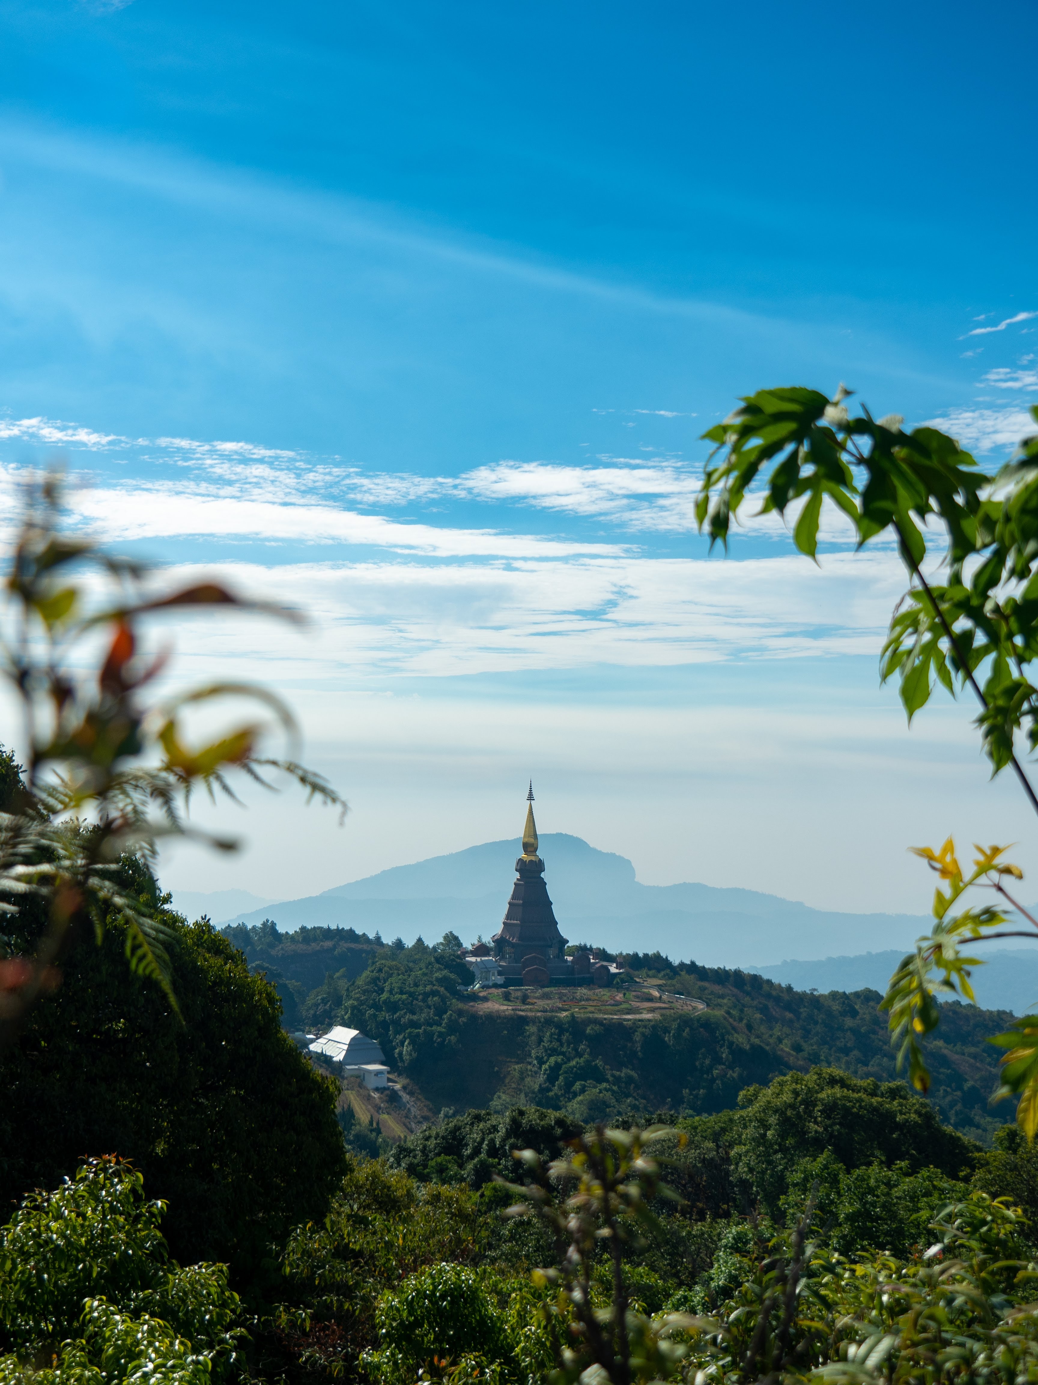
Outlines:
[[[875, 990], [810, 994], [750, 972], [635, 954], [626, 988], [581, 992], [574, 1011], [574, 993], [565, 990], [525, 1003], [518, 993], [461, 996], [469, 972], [448, 947], [385, 946], [350, 929], [239, 925], [224, 933], [278, 986], [291, 1028], [363, 1029], [436, 1111], [536, 1105], [579, 1120], [709, 1114], [734, 1107], [749, 1084], [815, 1065], [884, 1082], [897, 1076]], [[704, 1008], [621, 1014], [614, 1001], [652, 982]], [[931, 1043], [930, 1100], [944, 1120], [984, 1141], [1012, 1119], [1012, 1102], [988, 1105], [998, 1051], [987, 1042], [1012, 1018], [943, 1006]]]

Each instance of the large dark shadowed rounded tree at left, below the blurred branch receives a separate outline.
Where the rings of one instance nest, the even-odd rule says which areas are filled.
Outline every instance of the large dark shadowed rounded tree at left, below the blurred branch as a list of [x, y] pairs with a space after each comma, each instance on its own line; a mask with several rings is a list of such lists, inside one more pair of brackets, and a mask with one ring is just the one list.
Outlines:
[[[120, 873], [138, 907], [155, 907], [147, 867], [127, 857]], [[0, 1060], [0, 1201], [53, 1187], [84, 1150], [118, 1150], [169, 1204], [173, 1253], [228, 1260], [245, 1284], [327, 1209], [345, 1166], [338, 1084], [299, 1053], [241, 953], [209, 924], [158, 911], [183, 1021], [151, 982], [127, 981], [118, 920], [100, 947], [78, 949]]]

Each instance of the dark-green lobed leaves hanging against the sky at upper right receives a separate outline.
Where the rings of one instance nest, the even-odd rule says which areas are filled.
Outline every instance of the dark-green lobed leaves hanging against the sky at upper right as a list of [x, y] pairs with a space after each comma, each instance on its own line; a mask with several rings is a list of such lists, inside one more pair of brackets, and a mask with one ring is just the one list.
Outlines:
[[[800, 386], [743, 397], [703, 434], [717, 449], [703, 472], [699, 528], [711, 546], [727, 544], [753, 496], [763, 515], [796, 507], [793, 542], [815, 560], [826, 510], [850, 524], [858, 547], [893, 537], [909, 590], [883, 647], [883, 679], [900, 676], [909, 720], [937, 683], [952, 694], [969, 686], [994, 773], [1012, 766], [1038, 812], [1014, 748], [1021, 731], [1038, 747], [1038, 686], [1028, 673], [1038, 656], [1038, 434], [992, 476], [947, 434], [905, 432], [898, 414], [853, 416], [848, 397], [843, 385], [833, 399]], [[1038, 422], [1038, 407], [1031, 416]], [[934, 532], [943, 533], [943, 584], [923, 572]]]

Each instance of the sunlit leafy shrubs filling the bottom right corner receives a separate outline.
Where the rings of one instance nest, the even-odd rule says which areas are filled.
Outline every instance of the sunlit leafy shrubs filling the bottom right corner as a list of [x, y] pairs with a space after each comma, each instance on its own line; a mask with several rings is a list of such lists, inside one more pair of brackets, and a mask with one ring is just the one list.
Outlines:
[[1019, 1385], [1038, 1371], [1038, 1267], [1026, 1224], [983, 1192], [944, 1206], [922, 1255], [846, 1259], [805, 1219], [747, 1246], [740, 1283], [698, 1324], [689, 1374]]

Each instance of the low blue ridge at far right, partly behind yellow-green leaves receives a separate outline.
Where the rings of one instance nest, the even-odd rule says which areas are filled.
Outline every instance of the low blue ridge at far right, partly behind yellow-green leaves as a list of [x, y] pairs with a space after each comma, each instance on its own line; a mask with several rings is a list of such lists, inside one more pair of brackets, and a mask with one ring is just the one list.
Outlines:
[[[819, 961], [782, 961], [776, 967], [749, 967], [770, 981], [796, 990], [872, 990], [884, 992], [894, 968], [905, 954], [897, 951], [864, 953], [858, 957], [825, 957]], [[1026, 1014], [1038, 1004], [1038, 947], [987, 951], [991, 960], [973, 970], [977, 1004], [984, 1010], [1012, 1010]]]

